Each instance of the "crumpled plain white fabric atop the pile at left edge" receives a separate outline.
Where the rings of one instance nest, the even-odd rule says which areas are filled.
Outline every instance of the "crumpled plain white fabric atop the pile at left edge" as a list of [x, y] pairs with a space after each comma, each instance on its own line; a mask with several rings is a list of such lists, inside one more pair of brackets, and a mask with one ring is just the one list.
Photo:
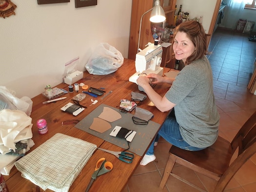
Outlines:
[[0, 111], [0, 153], [15, 151], [15, 143], [32, 138], [32, 118], [20, 110]]

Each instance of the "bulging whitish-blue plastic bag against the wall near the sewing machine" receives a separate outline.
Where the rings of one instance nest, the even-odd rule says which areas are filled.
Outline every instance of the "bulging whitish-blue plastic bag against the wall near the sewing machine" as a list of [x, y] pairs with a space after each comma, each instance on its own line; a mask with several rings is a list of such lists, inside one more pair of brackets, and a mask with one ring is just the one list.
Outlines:
[[85, 64], [85, 69], [89, 74], [107, 75], [117, 71], [122, 64], [123, 56], [115, 47], [100, 43]]

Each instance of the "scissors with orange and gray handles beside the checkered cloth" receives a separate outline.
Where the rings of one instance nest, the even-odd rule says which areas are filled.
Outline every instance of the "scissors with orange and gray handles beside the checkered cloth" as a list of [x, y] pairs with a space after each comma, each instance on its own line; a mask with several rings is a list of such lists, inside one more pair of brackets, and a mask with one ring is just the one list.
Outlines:
[[94, 173], [92, 175], [91, 181], [89, 183], [89, 185], [86, 188], [85, 192], [88, 192], [89, 189], [91, 188], [93, 182], [95, 181], [95, 179], [99, 176], [102, 175], [104, 173], [108, 173], [113, 169], [113, 164], [110, 161], [107, 161], [104, 157], [98, 159], [97, 163], [96, 163], [96, 167], [94, 170]]

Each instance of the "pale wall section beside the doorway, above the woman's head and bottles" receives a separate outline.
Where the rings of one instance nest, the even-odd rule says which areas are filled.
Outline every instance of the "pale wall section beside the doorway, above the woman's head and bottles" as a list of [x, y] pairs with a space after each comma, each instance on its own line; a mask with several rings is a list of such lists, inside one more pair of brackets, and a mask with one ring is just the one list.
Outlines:
[[205, 33], [208, 33], [212, 17], [214, 14], [215, 6], [217, 0], [177, 0], [177, 10], [179, 5], [182, 5], [182, 12], [188, 12], [189, 18], [193, 19], [195, 17], [202, 19], [202, 25]]

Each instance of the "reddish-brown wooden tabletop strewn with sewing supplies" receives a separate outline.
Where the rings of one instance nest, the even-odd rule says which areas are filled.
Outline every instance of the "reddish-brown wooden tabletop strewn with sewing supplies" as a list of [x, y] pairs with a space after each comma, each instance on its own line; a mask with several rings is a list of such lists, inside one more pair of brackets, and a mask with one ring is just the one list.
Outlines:
[[[164, 73], [168, 72], [169, 68], [164, 68]], [[111, 107], [119, 108], [120, 99], [129, 99], [131, 100], [131, 92], [139, 92], [138, 85], [132, 82], [129, 82], [129, 77], [135, 73], [135, 61], [131, 59], [124, 59], [124, 63], [115, 73], [109, 75], [91, 75], [87, 71], [84, 72], [83, 78], [78, 81], [78, 83], [83, 82], [86, 85], [99, 88], [104, 87], [106, 93], [109, 91], [113, 91], [113, 93], [109, 94], [103, 99], [100, 99], [101, 96], [97, 97], [98, 103], [95, 105], [89, 106], [91, 102], [91, 98], [95, 99], [95, 97], [87, 95], [84, 100], [80, 102], [81, 105], [87, 106], [82, 113], [78, 116], [73, 116], [68, 113], [64, 113], [60, 110], [66, 103], [72, 102], [71, 99], [73, 96], [76, 96], [78, 93], [68, 93], [64, 96], [67, 96], [66, 99], [60, 100], [57, 102], [52, 102], [48, 104], [42, 104], [43, 101], [46, 101], [47, 98], [42, 96], [41, 94], [32, 98], [33, 100], [33, 108], [31, 113], [32, 118], [32, 132], [33, 132], [33, 141], [35, 142], [35, 146], [29, 151], [33, 151], [47, 139], [51, 138], [53, 135], [57, 133], [70, 135], [73, 137], [77, 137], [79, 139], [83, 139], [90, 143], [96, 144], [100, 148], [109, 149], [112, 151], [122, 151], [123, 149], [113, 145], [103, 139], [100, 139], [92, 134], [88, 134], [82, 130], [79, 130], [74, 127], [74, 125], [61, 125], [62, 121], [77, 119], [82, 120], [86, 115], [90, 114], [95, 108], [97, 108], [101, 103], [109, 105]], [[57, 85], [58, 88], [63, 88], [68, 90], [68, 85], [65, 83], [61, 83]], [[161, 85], [156, 85], [154, 89], [163, 96], [165, 92], [170, 88], [170, 85], [164, 83]], [[81, 93], [81, 88], [79, 93]], [[43, 92], [43, 88], [42, 88]], [[140, 108], [144, 108], [146, 110], [151, 111], [154, 114], [152, 121], [159, 123], [160, 125], [165, 120], [168, 112], [162, 113], [160, 112], [154, 104], [148, 99], [148, 97], [143, 101], [143, 104], [140, 105]], [[132, 112], [134, 113], [134, 112]], [[47, 121], [48, 125], [48, 133], [39, 134], [36, 122], [39, 118], [44, 118]], [[159, 127], [160, 128], [160, 127]], [[103, 174], [99, 176], [93, 183], [90, 191], [91, 192], [120, 192], [125, 187], [129, 178], [132, 176], [134, 171], [136, 170], [139, 162], [141, 160], [141, 156], [135, 154], [135, 158], [133, 163], [127, 164], [115, 157], [112, 154], [105, 153], [100, 150], [96, 150], [89, 161], [86, 163], [81, 173], [77, 177], [77, 179], [73, 182], [70, 187], [70, 192], [82, 192], [85, 191], [87, 185], [91, 180], [91, 176], [94, 172], [94, 168], [96, 162], [99, 158], [105, 157], [108, 161], [113, 163], [113, 170], [107, 174]], [[4, 175], [4, 179], [9, 188], [10, 192], [28, 192], [28, 191], [37, 191], [42, 192], [38, 186], [34, 185], [27, 179], [24, 179], [20, 176], [20, 172], [14, 166], [10, 172], [10, 175]], [[47, 190], [51, 191], [51, 190]]]

